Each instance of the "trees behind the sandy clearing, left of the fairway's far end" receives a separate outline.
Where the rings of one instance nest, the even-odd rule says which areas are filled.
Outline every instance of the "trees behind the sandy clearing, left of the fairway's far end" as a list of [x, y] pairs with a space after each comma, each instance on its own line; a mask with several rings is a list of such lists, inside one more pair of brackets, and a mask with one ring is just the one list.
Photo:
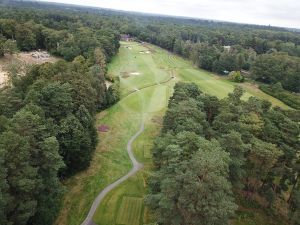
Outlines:
[[[82, 23], [84, 17], [74, 13], [34, 9], [0, 8], [0, 15], [0, 46], [1, 40], [15, 41], [20, 51], [44, 49], [67, 61], [78, 55], [91, 58], [96, 47], [103, 50], [109, 61], [119, 48], [119, 34], [108, 22], [89, 26]], [[101, 20], [109, 19], [97, 17], [97, 21]]]

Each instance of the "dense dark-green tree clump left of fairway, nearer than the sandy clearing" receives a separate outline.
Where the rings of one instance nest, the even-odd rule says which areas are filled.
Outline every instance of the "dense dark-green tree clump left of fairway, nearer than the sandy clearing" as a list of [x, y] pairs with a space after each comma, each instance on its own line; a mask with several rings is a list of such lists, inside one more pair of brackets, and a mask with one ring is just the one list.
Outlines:
[[[103, 82], [98, 76], [85, 60], [58, 62], [35, 66], [1, 90], [9, 120], [0, 134], [7, 223], [52, 224], [63, 191], [58, 177], [89, 166], [98, 138], [93, 116], [106, 104], [105, 84], [102, 93], [93, 87]], [[18, 101], [9, 103], [14, 95]]]

